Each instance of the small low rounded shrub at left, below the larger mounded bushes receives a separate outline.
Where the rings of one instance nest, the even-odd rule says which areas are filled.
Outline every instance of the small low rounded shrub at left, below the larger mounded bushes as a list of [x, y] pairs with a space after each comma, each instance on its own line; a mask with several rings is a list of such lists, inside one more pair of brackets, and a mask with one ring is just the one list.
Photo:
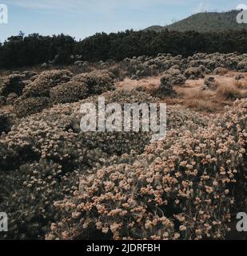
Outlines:
[[45, 109], [50, 104], [50, 98], [20, 98], [14, 104], [14, 113], [18, 118], [26, 117], [30, 114], [35, 114]]

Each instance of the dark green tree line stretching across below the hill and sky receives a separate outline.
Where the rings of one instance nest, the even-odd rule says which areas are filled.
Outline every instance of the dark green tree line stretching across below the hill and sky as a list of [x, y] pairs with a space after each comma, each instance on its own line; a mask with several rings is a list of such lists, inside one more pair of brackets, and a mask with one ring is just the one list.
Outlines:
[[155, 56], [159, 53], [185, 57], [198, 52], [223, 54], [247, 53], [247, 31], [225, 31], [221, 33], [177, 32], [164, 30], [98, 33], [76, 41], [69, 35], [42, 36], [30, 34], [12, 36], [0, 45], [0, 68], [10, 69], [35, 66], [53, 60], [56, 64], [71, 64], [71, 55], [82, 55], [89, 62], [121, 61], [133, 56]]

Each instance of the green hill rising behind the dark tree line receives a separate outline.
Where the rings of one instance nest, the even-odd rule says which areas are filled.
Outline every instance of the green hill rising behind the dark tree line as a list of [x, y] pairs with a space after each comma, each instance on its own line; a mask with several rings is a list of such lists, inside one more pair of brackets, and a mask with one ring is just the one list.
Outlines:
[[185, 18], [179, 22], [175, 22], [169, 26], [149, 26], [146, 30], [175, 30], [197, 32], [221, 32], [225, 30], [247, 30], [247, 24], [238, 24], [236, 17], [239, 11], [232, 10], [225, 13], [199, 13], [193, 14], [189, 18]]

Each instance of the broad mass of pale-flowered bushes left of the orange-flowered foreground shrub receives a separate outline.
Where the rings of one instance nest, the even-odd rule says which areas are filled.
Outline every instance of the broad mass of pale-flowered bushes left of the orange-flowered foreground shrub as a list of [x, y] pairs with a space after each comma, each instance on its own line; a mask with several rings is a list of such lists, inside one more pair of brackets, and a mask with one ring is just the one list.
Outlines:
[[[157, 100], [138, 90], [116, 90], [102, 96], [106, 104]], [[6, 238], [44, 238], [51, 222], [63, 218], [54, 201], [78, 188], [78, 175], [125, 162], [122, 154], [141, 154], [149, 144], [150, 134], [142, 132], [82, 133], [79, 110], [83, 102], [97, 104], [98, 96], [22, 118], [2, 136], [0, 207], [10, 213]], [[197, 130], [207, 123], [189, 110], [169, 107], [167, 112], [169, 129], [188, 126]]]

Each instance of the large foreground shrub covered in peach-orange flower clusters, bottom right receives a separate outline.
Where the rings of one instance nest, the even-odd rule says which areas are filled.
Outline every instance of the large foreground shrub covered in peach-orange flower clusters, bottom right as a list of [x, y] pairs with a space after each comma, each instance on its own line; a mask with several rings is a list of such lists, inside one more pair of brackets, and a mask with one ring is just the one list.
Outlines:
[[92, 229], [114, 239], [225, 238], [233, 188], [246, 178], [246, 110], [236, 102], [206, 128], [170, 130], [143, 154], [82, 175], [74, 195], [55, 202], [66, 214], [46, 239], [90, 238]]

